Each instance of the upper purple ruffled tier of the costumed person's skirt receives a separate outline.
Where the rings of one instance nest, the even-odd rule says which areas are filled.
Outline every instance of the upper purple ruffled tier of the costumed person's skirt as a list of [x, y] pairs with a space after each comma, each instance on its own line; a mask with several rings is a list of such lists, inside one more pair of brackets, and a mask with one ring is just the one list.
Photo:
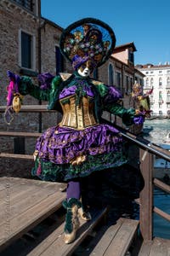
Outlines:
[[114, 152], [120, 143], [119, 131], [110, 125], [95, 125], [82, 131], [54, 126], [38, 138], [36, 149], [42, 160], [66, 164], [82, 154]]

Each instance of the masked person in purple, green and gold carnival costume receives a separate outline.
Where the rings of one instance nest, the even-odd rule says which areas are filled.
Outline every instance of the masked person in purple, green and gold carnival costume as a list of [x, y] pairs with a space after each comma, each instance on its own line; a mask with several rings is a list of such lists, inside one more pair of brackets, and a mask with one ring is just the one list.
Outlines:
[[8, 72], [13, 84], [8, 87], [7, 109], [12, 102], [10, 88], [15, 87], [19, 104], [20, 96], [29, 94], [48, 101], [48, 109], [63, 113], [61, 122], [37, 139], [32, 174], [42, 180], [68, 183], [63, 203], [66, 208], [65, 243], [76, 238], [78, 213], [86, 220], [91, 218], [89, 212], [83, 212], [80, 179], [93, 172], [122, 166], [127, 161], [122, 154], [120, 132], [101, 122], [103, 111], [116, 114], [128, 126], [144, 122], [143, 113], [122, 107], [119, 102], [122, 95], [114, 86], [89, 77], [95, 68], [108, 60], [115, 44], [115, 34], [110, 26], [101, 20], [82, 19], [62, 32], [59, 43], [61, 53], [71, 61], [74, 73], [61, 73], [55, 77], [49, 73], [39, 75], [42, 85], [38, 87], [29, 77]]

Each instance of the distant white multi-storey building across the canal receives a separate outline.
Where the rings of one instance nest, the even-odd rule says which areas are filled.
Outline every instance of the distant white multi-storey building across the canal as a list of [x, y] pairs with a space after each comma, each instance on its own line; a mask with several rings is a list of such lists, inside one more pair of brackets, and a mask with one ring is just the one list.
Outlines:
[[154, 88], [150, 95], [152, 115], [170, 116], [170, 64], [138, 65], [136, 68], [144, 73], [144, 91]]

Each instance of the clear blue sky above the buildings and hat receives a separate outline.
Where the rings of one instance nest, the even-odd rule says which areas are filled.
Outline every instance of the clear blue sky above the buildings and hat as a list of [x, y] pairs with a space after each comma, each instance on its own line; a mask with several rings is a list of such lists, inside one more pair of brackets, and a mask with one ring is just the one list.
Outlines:
[[42, 16], [65, 28], [82, 18], [105, 21], [116, 46], [133, 42], [135, 64], [170, 62], [170, 1], [42, 0]]

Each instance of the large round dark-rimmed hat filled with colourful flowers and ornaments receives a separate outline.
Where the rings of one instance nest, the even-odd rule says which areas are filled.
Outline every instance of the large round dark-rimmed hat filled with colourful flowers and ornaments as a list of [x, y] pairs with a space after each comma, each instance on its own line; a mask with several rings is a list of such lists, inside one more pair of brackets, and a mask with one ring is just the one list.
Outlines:
[[112, 54], [115, 44], [116, 37], [110, 26], [101, 20], [85, 18], [65, 28], [59, 48], [77, 69], [88, 60], [94, 67], [101, 66]]

